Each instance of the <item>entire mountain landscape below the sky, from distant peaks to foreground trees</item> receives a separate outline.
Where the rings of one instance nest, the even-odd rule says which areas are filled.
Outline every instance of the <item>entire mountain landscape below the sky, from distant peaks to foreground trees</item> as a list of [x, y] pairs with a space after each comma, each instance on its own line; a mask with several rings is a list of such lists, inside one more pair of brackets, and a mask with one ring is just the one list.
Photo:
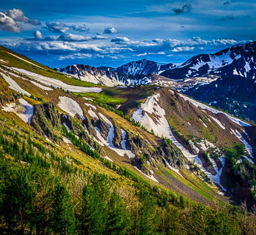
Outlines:
[[1, 231], [255, 234], [255, 51], [50, 69], [0, 46]]

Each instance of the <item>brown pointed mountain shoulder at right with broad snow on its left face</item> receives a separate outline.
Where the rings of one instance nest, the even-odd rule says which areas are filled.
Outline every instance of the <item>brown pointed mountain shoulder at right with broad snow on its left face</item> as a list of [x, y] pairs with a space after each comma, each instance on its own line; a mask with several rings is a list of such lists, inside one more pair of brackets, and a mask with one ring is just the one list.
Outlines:
[[[255, 203], [253, 176], [246, 178], [239, 172], [244, 169], [247, 175], [255, 171], [255, 126], [167, 89], [148, 97], [132, 118], [157, 136], [170, 139], [222, 190], [230, 191], [250, 206]], [[236, 146], [244, 149], [243, 155], [236, 155], [235, 162], [230, 163], [225, 155]], [[233, 181], [233, 174], [226, 174], [234, 167], [237, 182]], [[239, 194], [241, 189], [244, 194]]]

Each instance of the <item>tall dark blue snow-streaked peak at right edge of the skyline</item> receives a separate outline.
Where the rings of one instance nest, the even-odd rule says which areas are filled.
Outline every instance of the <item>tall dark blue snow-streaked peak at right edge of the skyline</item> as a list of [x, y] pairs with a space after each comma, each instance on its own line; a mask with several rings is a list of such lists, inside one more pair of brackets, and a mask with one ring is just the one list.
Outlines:
[[236, 74], [254, 79], [256, 74], [256, 42], [238, 44], [214, 54], [195, 55], [161, 75], [172, 79], [203, 77], [207, 74]]

